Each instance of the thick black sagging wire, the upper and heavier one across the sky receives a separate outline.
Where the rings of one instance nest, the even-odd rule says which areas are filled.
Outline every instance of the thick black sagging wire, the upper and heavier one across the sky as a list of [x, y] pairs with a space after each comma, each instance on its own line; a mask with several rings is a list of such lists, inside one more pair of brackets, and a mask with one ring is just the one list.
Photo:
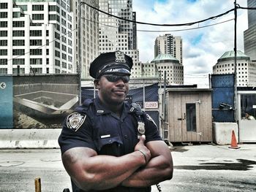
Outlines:
[[204, 20], [198, 20], [198, 21], [195, 21], [195, 22], [191, 22], [191, 23], [178, 23], [178, 24], [157, 24], [157, 23], [144, 23], [144, 22], [140, 22], [140, 21], [135, 21], [135, 20], [128, 20], [128, 19], [125, 19], [125, 18], [120, 18], [116, 15], [111, 15], [110, 13], [108, 12], [104, 12], [102, 11], [101, 9], [97, 9], [96, 7], [93, 7], [91, 6], [90, 4], [87, 4], [86, 2], [84, 1], [81, 1], [80, 4], [86, 4], [88, 7], [91, 7], [92, 9], [95, 9], [97, 10], [98, 12], [102, 12], [106, 15], [109, 15], [113, 18], [118, 18], [120, 20], [126, 20], [126, 21], [129, 21], [129, 22], [132, 22], [132, 23], [138, 23], [138, 24], [142, 24], [142, 25], [149, 25], [149, 26], [192, 26], [194, 25], [195, 23], [203, 23], [205, 22], [206, 20], [214, 20], [214, 19], [217, 19], [219, 17], [222, 17], [223, 15], [227, 15], [229, 12], [233, 12], [235, 9], [230, 9], [228, 10], [227, 12], [224, 12], [222, 14], [219, 14], [219, 15], [216, 15], [216, 16], [213, 16], [211, 18], [207, 18], [207, 19], [204, 19]]

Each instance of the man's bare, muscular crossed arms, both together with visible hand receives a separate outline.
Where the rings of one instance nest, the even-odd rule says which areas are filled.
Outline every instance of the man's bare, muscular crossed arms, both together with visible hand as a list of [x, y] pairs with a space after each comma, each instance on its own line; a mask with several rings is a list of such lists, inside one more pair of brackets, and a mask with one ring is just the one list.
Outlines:
[[140, 139], [133, 153], [121, 157], [97, 155], [88, 147], [75, 147], [62, 155], [62, 161], [69, 176], [84, 191], [117, 185], [146, 187], [170, 180], [173, 161], [167, 145], [162, 141], [144, 145], [144, 141], [145, 138]]

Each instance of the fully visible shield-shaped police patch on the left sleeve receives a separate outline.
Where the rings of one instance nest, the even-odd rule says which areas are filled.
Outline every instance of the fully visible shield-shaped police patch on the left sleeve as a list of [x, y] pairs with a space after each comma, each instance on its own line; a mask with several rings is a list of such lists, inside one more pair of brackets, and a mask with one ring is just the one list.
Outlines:
[[84, 120], [86, 120], [86, 115], [80, 114], [79, 112], [72, 112], [67, 117], [67, 127], [73, 131], [78, 131], [78, 128], [82, 126]]

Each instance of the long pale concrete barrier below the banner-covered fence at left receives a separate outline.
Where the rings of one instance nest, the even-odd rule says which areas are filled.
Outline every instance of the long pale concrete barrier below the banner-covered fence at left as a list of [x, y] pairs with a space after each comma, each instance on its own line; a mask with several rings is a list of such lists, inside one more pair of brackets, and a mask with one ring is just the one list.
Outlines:
[[0, 129], [0, 148], [59, 148], [61, 128]]

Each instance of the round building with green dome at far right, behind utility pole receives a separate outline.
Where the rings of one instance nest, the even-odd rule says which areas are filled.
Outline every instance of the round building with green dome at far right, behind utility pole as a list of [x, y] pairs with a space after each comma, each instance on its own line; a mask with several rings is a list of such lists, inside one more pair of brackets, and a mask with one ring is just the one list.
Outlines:
[[[213, 66], [214, 74], [233, 74], [235, 52], [233, 50], [225, 52]], [[236, 80], [239, 87], [255, 87], [256, 86], [256, 62], [250, 61], [248, 55], [240, 50], [236, 53]]]

